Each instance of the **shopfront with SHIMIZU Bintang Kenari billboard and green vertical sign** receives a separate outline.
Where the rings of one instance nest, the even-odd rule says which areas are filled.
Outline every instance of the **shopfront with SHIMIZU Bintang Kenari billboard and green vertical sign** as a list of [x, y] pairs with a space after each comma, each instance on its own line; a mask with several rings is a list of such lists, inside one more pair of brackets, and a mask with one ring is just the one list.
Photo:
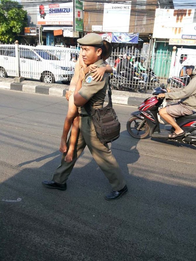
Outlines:
[[37, 26], [42, 30], [42, 37], [46, 37], [46, 44], [65, 47], [77, 45], [77, 38], [83, 32], [82, 9], [82, 2], [77, 0], [37, 6]]

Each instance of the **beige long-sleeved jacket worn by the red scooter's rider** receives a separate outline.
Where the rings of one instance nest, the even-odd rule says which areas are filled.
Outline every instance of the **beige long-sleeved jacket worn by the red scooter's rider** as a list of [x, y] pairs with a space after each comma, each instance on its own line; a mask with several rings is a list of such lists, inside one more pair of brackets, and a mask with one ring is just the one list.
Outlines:
[[166, 98], [180, 100], [188, 108], [196, 111], [196, 75], [191, 77], [189, 84], [183, 88], [173, 88], [171, 92], [165, 94]]

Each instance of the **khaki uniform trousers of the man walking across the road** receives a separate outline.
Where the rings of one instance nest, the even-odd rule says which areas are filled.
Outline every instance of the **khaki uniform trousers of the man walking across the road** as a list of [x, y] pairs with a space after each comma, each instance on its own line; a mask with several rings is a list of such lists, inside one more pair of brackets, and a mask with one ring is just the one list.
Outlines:
[[[73, 160], [70, 163], [65, 162], [64, 158], [66, 153], [63, 153], [61, 165], [59, 165], [59, 167], [56, 169], [53, 180], [59, 184], [66, 183], [77, 158], [80, 156], [87, 145], [93, 158], [109, 180], [112, 189], [115, 191], [123, 189], [126, 183], [121, 173], [121, 169], [116, 162], [116, 159], [112, 155], [111, 150], [108, 148], [108, 145], [102, 144], [97, 138], [94, 125], [89, 116], [80, 117], [79, 128], [80, 134], [75, 146]], [[68, 140], [68, 146], [69, 143], [70, 138]]]

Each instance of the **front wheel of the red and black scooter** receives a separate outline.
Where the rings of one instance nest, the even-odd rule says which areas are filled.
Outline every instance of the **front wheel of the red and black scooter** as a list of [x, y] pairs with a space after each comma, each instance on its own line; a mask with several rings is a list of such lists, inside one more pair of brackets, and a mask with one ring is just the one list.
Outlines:
[[[140, 128], [138, 129], [139, 126]], [[136, 139], [145, 139], [150, 132], [147, 121], [142, 120], [136, 116], [133, 116], [128, 120], [127, 131], [133, 138]]]

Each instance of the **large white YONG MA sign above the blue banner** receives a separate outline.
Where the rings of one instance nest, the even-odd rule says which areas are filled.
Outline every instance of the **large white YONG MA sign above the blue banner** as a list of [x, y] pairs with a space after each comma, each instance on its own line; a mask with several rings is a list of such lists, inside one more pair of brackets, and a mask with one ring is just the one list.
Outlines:
[[130, 4], [104, 4], [102, 32], [129, 32]]

